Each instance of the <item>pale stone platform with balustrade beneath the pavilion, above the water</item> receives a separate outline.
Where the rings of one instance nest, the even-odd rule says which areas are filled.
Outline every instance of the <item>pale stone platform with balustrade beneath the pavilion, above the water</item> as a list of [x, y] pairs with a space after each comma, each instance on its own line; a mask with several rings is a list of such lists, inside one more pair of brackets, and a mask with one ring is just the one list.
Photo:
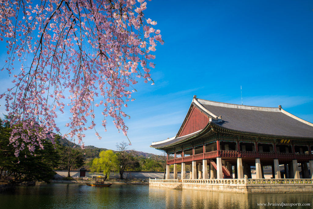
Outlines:
[[149, 186], [242, 194], [313, 192], [312, 179], [151, 179]]

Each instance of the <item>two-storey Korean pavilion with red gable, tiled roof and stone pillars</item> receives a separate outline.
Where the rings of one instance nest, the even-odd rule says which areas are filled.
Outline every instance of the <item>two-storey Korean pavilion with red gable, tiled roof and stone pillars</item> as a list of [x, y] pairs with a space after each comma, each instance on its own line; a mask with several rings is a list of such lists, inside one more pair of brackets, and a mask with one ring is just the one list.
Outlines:
[[167, 153], [166, 179], [170, 165], [177, 179], [178, 163], [182, 179], [186, 164], [191, 166], [191, 179], [251, 178], [251, 166], [257, 179], [264, 178], [263, 166], [272, 166], [275, 179], [313, 177], [313, 124], [281, 106], [235, 105], [194, 96], [177, 135], [151, 147]]

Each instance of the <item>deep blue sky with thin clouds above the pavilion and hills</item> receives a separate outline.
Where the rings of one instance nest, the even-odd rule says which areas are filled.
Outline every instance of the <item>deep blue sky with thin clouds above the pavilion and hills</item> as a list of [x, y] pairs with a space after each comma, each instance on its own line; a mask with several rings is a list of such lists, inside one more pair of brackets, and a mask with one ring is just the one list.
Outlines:
[[[157, 21], [165, 44], [155, 52], [155, 85], [137, 84], [136, 100], [124, 109], [130, 149], [160, 154], [149, 145], [176, 135], [193, 95], [241, 104], [240, 86], [244, 105], [282, 105], [313, 122], [312, 9], [312, 1], [148, 2], [145, 16]], [[2, 92], [10, 82], [0, 74]], [[103, 139], [88, 131], [86, 145], [115, 149], [127, 141], [110, 119], [107, 132], [98, 121]]]

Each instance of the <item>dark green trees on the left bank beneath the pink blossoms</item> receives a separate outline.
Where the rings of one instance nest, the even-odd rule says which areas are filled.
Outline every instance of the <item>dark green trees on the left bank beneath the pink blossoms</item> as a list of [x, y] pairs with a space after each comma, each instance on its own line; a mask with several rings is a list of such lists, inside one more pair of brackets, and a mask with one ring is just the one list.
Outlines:
[[[54, 145], [47, 140], [43, 142], [44, 150], [36, 149], [31, 153], [28, 149], [24, 149], [23, 152], [20, 152], [19, 157], [15, 157], [15, 148], [9, 144], [11, 131], [12, 128], [8, 124], [4, 124], [0, 118], [0, 181], [49, 182], [55, 175], [53, 168], [57, 166], [57, 159], [59, 159]], [[25, 144], [25, 147], [27, 145]]]

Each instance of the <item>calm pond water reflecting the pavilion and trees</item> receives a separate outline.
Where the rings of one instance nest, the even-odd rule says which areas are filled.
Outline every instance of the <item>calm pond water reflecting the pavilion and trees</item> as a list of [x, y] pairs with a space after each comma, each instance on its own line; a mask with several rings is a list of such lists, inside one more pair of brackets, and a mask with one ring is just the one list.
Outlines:
[[[257, 203], [310, 203], [310, 206], [258, 206]], [[84, 184], [19, 186], [0, 194], [0, 208], [313, 208], [313, 194], [235, 194], [173, 190], [148, 185], [93, 187]]]

